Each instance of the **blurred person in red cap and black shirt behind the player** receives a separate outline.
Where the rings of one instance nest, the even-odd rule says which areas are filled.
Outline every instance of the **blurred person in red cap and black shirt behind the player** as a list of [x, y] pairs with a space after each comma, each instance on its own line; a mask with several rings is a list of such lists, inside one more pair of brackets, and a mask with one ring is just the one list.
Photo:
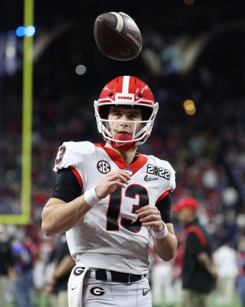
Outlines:
[[214, 289], [216, 270], [212, 261], [212, 244], [197, 216], [198, 201], [184, 197], [173, 206], [187, 231], [182, 264], [181, 307], [207, 307], [208, 294]]

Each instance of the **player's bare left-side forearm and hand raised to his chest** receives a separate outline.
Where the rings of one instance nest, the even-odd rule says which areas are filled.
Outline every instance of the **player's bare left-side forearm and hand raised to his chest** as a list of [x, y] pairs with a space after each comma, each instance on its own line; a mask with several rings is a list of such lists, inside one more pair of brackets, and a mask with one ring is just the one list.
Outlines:
[[[125, 170], [109, 172], [104, 175], [102, 181], [95, 188], [97, 197], [102, 200], [107, 195], [113, 193], [118, 186], [125, 188], [125, 184], [128, 184], [129, 179], [130, 176]], [[69, 186], [68, 181], [66, 179], [63, 180], [63, 182], [61, 181], [58, 184], [59, 195], [68, 193], [68, 190], [64, 191], [65, 187]], [[57, 194], [54, 193], [54, 195]], [[66, 232], [76, 225], [92, 208], [84, 199], [84, 195], [79, 195], [69, 202], [52, 197], [42, 210], [42, 231], [48, 237]]]

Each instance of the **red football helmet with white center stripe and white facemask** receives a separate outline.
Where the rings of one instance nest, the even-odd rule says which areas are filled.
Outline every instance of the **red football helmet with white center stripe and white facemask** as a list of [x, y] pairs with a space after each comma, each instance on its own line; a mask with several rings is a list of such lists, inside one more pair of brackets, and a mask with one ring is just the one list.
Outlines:
[[[148, 85], [137, 77], [127, 75], [116, 77], [106, 84], [94, 105], [99, 132], [106, 142], [111, 142], [111, 145], [120, 151], [141, 145], [148, 139], [158, 110], [158, 103], [155, 102]], [[141, 107], [142, 120], [127, 121], [134, 123], [133, 135], [114, 135], [113, 128], [109, 126], [113, 127], [113, 122], [122, 121], [108, 119], [110, 105]], [[137, 123], [141, 123], [139, 130], [136, 130]]]

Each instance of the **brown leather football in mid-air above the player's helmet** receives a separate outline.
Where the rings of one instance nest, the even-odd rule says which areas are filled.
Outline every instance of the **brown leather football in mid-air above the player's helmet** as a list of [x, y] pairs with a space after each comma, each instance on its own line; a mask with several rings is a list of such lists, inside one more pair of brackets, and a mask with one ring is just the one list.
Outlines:
[[142, 36], [132, 17], [122, 12], [99, 15], [94, 24], [95, 43], [110, 59], [129, 61], [139, 56]]

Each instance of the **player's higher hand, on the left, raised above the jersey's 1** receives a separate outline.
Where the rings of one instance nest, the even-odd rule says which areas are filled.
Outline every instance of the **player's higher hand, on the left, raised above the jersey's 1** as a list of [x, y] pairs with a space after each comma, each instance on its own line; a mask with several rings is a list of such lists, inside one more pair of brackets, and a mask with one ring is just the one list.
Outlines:
[[113, 193], [118, 186], [125, 188], [130, 179], [129, 173], [125, 170], [113, 170], [107, 173], [95, 188], [97, 196], [102, 200]]

